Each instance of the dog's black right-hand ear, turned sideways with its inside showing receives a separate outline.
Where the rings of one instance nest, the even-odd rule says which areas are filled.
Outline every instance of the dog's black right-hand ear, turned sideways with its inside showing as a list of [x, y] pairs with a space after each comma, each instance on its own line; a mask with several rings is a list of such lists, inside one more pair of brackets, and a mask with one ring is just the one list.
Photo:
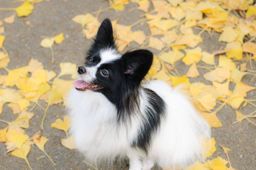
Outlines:
[[125, 77], [139, 84], [146, 76], [153, 62], [153, 54], [148, 50], [126, 52], [122, 56]]

